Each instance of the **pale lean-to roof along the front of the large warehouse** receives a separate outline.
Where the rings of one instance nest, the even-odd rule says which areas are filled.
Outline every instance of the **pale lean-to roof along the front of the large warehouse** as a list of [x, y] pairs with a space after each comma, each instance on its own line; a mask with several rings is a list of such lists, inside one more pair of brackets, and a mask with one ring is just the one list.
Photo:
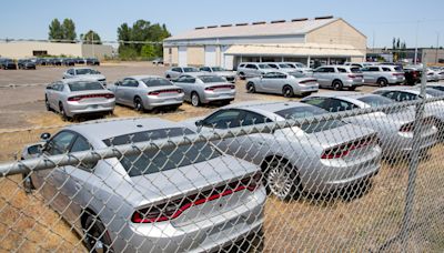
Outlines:
[[363, 52], [347, 44], [289, 43], [289, 44], [233, 44], [225, 54], [231, 55], [324, 55], [365, 57]]

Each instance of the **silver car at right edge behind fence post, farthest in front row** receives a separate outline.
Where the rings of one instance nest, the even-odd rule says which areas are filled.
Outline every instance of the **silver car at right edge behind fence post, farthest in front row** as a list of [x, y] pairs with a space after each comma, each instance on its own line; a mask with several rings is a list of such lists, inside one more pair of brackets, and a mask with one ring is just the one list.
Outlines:
[[[374, 94], [380, 94], [395, 102], [413, 101], [420, 99], [420, 87], [387, 87], [373, 91]], [[427, 85], [425, 89], [426, 98], [444, 98], [444, 92]], [[440, 136], [444, 138], [444, 101], [435, 101], [425, 104], [427, 117], [434, 117], [436, 126], [440, 130]]]

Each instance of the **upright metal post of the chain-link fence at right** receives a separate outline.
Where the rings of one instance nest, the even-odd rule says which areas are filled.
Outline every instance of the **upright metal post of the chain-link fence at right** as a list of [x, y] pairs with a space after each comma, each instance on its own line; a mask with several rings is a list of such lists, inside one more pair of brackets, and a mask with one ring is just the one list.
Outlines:
[[412, 214], [413, 214], [413, 203], [414, 203], [414, 196], [415, 196], [415, 186], [416, 186], [416, 172], [417, 172], [417, 165], [420, 163], [420, 148], [421, 148], [421, 130], [422, 130], [422, 119], [424, 115], [424, 104], [425, 104], [425, 87], [427, 83], [427, 72], [426, 72], [426, 65], [424, 63], [425, 59], [425, 52], [423, 53], [422, 57], [422, 63], [423, 63], [423, 72], [421, 75], [421, 103], [416, 105], [416, 113], [415, 113], [415, 123], [414, 123], [414, 131], [413, 131], [413, 146], [412, 146], [412, 153], [411, 153], [411, 159], [408, 163], [408, 182], [407, 182], [407, 189], [405, 192], [405, 208], [404, 208], [404, 215], [402, 220], [402, 225], [401, 225], [401, 245], [403, 249], [403, 252], [406, 252], [407, 250], [407, 240], [408, 240], [408, 232], [411, 229], [411, 223], [412, 223]]

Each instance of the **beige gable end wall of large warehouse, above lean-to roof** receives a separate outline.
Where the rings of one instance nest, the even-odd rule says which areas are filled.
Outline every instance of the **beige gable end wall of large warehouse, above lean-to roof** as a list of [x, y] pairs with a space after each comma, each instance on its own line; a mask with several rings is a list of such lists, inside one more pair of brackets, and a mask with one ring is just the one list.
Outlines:
[[311, 43], [350, 44], [364, 55], [366, 53], [366, 37], [342, 19], [307, 33], [305, 40]]

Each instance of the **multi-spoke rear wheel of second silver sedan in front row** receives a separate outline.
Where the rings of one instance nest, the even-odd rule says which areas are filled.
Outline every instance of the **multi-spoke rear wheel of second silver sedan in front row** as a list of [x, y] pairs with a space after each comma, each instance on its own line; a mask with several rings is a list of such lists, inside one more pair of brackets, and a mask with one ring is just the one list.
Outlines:
[[297, 171], [284, 159], [274, 158], [264, 174], [268, 192], [281, 200], [290, 200], [301, 192]]

